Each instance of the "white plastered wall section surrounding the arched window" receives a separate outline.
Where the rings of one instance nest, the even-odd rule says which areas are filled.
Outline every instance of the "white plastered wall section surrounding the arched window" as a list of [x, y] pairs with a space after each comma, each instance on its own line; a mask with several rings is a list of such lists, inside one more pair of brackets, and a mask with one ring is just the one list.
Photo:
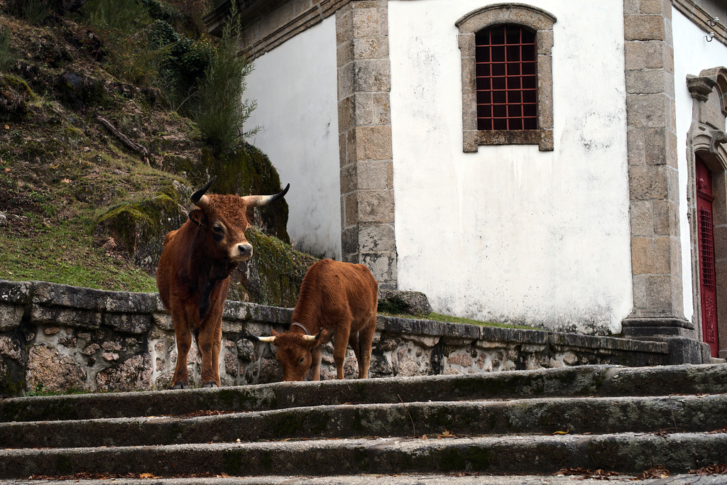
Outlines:
[[622, 0], [539, 0], [555, 151], [462, 153], [457, 28], [483, 0], [389, 2], [400, 289], [435, 311], [584, 333], [632, 309]]

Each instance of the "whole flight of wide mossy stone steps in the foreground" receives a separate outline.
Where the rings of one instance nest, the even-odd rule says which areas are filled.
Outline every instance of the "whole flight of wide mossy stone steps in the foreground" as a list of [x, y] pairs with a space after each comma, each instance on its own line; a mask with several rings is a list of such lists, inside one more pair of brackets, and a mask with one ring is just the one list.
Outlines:
[[0, 479], [688, 473], [727, 463], [726, 393], [708, 364], [9, 398]]

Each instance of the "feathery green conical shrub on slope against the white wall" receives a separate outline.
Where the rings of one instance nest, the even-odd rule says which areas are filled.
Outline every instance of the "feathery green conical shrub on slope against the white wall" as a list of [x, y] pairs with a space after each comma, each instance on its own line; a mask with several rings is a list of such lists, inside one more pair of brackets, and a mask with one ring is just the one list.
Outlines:
[[197, 125], [217, 155], [235, 150], [246, 137], [257, 132], [257, 128], [247, 132], [243, 128], [256, 103], [242, 98], [245, 78], [253, 67], [245, 55], [237, 53], [241, 23], [236, 3], [230, 2], [222, 39], [207, 65], [198, 92]]

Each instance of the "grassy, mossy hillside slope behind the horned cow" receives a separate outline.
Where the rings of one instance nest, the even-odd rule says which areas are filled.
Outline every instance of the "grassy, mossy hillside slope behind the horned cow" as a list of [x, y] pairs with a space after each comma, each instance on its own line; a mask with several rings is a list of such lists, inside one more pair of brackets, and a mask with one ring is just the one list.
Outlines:
[[[217, 173], [217, 193], [280, 181], [263, 153], [220, 146], [193, 121], [222, 49], [201, 25], [210, 2], [69, 3], [0, 0], [0, 278], [153, 292], [193, 188]], [[286, 245], [287, 205], [264, 209], [256, 238], [276, 236], [261, 246], [300, 279], [312, 258]], [[233, 297], [260, 300], [238, 286]]]

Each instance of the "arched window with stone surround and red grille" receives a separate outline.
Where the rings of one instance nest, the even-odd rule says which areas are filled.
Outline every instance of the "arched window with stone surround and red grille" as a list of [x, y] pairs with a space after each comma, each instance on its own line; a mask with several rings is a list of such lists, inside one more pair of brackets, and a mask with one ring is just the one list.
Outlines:
[[515, 144], [553, 150], [555, 20], [523, 4], [489, 5], [457, 20], [465, 152]]

